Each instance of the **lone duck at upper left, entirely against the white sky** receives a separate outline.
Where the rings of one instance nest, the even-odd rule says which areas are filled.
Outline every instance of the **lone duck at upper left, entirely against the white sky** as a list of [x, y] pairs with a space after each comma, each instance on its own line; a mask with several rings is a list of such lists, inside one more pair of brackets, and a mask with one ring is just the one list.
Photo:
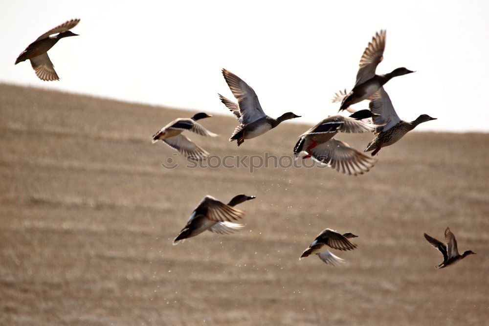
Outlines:
[[[54, 65], [47, 55], [47, 51], [64, 37], [78, 36], [78, 34], [69, 31], [69, 29], [75, 27], [78, 22], [80, 22], [79, 19], [72, 19], [71, 21], [67, 21], [45, 32], [23, 50], [15, 61], [15, 64], [17, 65], [22, 61], [30, 60], [32, 68], [34, 68], [39, 79], [45, 81], [59, 80], [58, 74], [54, 70]], [[56, 33], [59, 34], [50, 36]]]

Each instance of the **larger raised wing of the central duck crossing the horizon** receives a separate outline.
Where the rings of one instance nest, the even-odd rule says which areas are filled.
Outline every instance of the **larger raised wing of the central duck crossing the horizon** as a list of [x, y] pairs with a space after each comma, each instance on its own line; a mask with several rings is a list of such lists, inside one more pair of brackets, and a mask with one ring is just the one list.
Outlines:
[[226, 69], [222, 69], [222, 75], [234, 97], [238, 100], [242, 119], [241, 123], [247, 125], [267, 116], [263, 112], [258, 101], [258, 96], [256, 96], [253, 88], [249, 87], [241, 78]]

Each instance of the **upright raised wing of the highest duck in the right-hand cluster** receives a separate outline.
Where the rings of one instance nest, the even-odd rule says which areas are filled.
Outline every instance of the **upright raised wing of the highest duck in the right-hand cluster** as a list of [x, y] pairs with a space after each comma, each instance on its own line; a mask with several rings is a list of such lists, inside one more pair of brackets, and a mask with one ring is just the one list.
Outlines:
[[385, 30], [376, 33], [372, 42], [368, 43], [360, 58], [360, 67], [356, 74], [355, 86], [363, 84], [375, 76], [377, 65], [382, 61], [385, 48]]

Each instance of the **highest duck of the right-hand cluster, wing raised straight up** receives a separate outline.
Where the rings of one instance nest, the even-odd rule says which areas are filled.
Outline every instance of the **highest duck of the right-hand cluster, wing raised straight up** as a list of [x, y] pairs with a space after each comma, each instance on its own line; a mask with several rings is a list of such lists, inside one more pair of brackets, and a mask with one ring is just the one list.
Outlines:
[[[377, 65], [382, 61], [382, 56], [385, 48], [385, 30], [376, 33], [365, 48], [360, 59], [360, 68], [356, 74], [356, 83], [352, 91], [345, 96], [335, 96], [333, 103], [341, 100], [339, 110], [347, 109], [349, 106], [368, 99], [380, 87], [387, 83], [391, 78], [412, 73], [414, 71], [404, 67], [392, 70], [385, 75], [376, 75]], [[345, 91], [346, 93], [346, 91]]]

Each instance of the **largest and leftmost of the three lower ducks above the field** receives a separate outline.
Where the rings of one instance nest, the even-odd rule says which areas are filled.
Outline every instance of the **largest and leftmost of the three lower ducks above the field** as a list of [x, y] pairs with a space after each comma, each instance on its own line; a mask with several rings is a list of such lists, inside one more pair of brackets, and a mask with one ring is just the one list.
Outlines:
[[226, 205], [212, 196], [205, 196], [192, 212], [187, 225], [180, 231], [177, 238], [173, 240], [173, 245], [184, 239], [195, 237], [206, 230], [219, 234], [230, 234], [239, 231], [244, 225], [233, 223], [231, 220], [242, 218], [244, 212], [233, 208], [233, 206], [254, 198], [255, 196], [241, 194], [234, 196]]

